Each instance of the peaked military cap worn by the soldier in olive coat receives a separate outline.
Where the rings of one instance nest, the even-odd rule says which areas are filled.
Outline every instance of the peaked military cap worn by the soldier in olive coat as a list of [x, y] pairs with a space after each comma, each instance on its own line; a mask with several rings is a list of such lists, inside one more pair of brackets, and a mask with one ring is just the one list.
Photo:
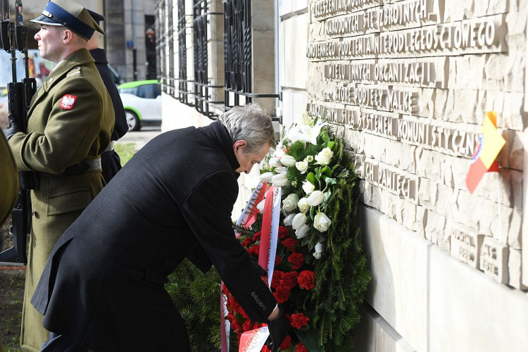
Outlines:
[[31, 22], [41, 25], [62, 25], [87, 40], [92, 38], [95, 31], [104, 34], [86, 8], [69, 0], [49, 0], [42, 15]]

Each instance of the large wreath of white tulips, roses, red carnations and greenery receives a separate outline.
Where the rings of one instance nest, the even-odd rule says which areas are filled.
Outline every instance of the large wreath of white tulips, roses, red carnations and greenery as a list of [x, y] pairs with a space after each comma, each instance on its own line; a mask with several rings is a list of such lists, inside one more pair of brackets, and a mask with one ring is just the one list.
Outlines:
[[[347, 337], [360, 321], [358, 309], [371, 279], [357, 218], [358, 178], [344, 140], [323, 121], [303, 113], [302, 123], [283, 132], [260, 170], [261, 180], [282, 187], [284, 194], [271, 290], [293, 327], [280, 346], [287, 351], [352, 351]], [[242, 246], [255, 259], [261, 220], [248, 230], [237, 227]], [[239, 341], [261, 325], [251, 322], [227, 288], [222, 292]]]

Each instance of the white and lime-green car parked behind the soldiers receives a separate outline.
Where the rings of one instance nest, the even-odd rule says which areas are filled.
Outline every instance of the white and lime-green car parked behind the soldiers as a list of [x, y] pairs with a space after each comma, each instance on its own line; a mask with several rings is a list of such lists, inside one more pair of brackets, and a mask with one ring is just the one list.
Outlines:
[[145, 125], [161, 125], [161, 88], [157, 80], [127, 82], [118, 89], [129, 131], [138, 131]]

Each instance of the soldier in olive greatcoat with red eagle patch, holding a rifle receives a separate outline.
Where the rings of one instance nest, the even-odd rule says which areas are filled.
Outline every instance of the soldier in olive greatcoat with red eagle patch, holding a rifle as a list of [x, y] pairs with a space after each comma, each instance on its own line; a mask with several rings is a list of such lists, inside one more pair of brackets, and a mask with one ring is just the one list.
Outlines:
[[31, 192], [32, 231], [28, 253], [21, 344], [39, 351], [49, 332], [30, 304], [42, 269], [61, 234], [103, 189], [101, 153], [110, 144], [112, 101], [87, 49], [94, 31], [103, 33], [86, 8], [52, 0], [32, 20], [43, 58], [57, 63], [34, 95], [27, 131], [16, 121], [4, 130], [18, 170], [37, 172]]

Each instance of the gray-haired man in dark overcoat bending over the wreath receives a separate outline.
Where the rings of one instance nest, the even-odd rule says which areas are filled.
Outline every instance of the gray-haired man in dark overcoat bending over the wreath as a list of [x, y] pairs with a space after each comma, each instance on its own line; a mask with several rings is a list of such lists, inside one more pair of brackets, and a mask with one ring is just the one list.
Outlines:
[[163, 287], [187, 257], [203, 272], [214, 265], [251, 320], [270, 320], [277, 351], [289, 322], [231, 221], [239, 172], [270, 146], [271, 119], [253, 104], [207, 127], [163, 133], [138, 151], [51, 253], [32, 304], [52, 337], [78, 351], [190, 351]]

